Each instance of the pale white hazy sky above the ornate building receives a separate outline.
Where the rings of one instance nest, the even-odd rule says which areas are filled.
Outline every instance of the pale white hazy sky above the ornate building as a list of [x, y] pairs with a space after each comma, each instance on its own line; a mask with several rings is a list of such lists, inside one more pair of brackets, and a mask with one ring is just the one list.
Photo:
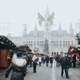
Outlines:
[[43, 29], [38, 24], [37, 13], [45, 16], [48, 7], [49, 12], [54, 12], [54, 25], [69, 29], [72, 23], [75, 32], [78, 32], [77, 23], [80, 22], [80, 0], [1, 0], [0, 1], [0, 34], [22, 35], [23, 24], [27, 25], [27, 31]]

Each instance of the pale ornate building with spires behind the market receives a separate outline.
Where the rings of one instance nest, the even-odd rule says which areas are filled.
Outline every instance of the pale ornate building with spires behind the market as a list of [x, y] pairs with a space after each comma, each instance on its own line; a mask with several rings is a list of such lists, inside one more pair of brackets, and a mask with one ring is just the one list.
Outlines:
[[[23, 36], [21, 36], [21, 37], [8, 36], [8, 37], [18, 46], [23, 45], [23, 44], [28, 44], [28, 46], [32, 50], [38, 49], [38, 51], [41, 53], [44, 53], [45, 40], [47, 39], [49, 53], [51, 53], [51, 52], [56, 52], [56, 53], [67, 52], [68, 48], [70, 46], [77, 45], [77, 41], [76, 41], [75, 35], [74, 35], [74, 30], [73, 30], [72, 26], [70, 26], [70, 33], [69, 33], [66, 30], [62, 30], [61, 25], [58, 26], [57, 30], [50, 30], [49, 27], [54, 26], [52, 24], [49, 24], [52, 21], [51, 17], [52, 17], [52, 15], [49, 17], [49, 21], [46, 21], [46, 20], [43, 21], [44, 20], [43, 16], [41, 16], [39, 14], [39, 20], [41, 19], [40, 21], [41, 22], [43, 21], [44, 24], [46, 24], [45, 25], [46, 29], [44, 31], [38, 30], [37, 26], [35, 26], [35, 29], [33, 31], [31, 31], [29, 34], [27, 34], [27, 29], [25, 26]], [[40, 24], [42, 24], [41, 22], [40, 22]]]

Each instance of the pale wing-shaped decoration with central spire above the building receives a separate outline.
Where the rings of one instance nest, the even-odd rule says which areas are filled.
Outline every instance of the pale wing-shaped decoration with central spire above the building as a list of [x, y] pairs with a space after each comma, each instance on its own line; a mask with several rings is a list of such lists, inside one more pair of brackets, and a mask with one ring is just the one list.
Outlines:
[[54, 19], [54, 12], [49, 13], [48, 7], [46, 9], [45, 16], [38, 13], [38, 23], [40, 26], [44, 26], [46, 32], [50, 31], [51, 26], [53, 25], [53, 19]]

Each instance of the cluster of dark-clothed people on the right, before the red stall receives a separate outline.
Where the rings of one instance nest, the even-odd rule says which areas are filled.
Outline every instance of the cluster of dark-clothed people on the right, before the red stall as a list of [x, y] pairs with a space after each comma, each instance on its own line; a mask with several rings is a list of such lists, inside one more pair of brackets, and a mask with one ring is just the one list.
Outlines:
[[68, 71], [70, 68], [76, 68], [76, 54], [70, 55], [65, 53], [64, 56], [60, 56], [57, 54], [55, 60], [57, 62], [56, 66], [61, 66], [61, 76], [63, 77], [63, 73], [65, 72], [66, 78], [69, 79]]

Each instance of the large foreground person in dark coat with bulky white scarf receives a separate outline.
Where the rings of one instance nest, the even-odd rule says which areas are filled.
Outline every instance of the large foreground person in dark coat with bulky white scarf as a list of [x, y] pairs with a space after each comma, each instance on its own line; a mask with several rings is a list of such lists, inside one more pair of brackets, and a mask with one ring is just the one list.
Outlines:
[[5, 77], [8, 78], [12, 71], [10, 80], [24, 80], [26, 75], [26, 63], [27, 61], [22, 57], [22, 53], [15, 53], [12, 57], [12, 63], [6, 71]]

